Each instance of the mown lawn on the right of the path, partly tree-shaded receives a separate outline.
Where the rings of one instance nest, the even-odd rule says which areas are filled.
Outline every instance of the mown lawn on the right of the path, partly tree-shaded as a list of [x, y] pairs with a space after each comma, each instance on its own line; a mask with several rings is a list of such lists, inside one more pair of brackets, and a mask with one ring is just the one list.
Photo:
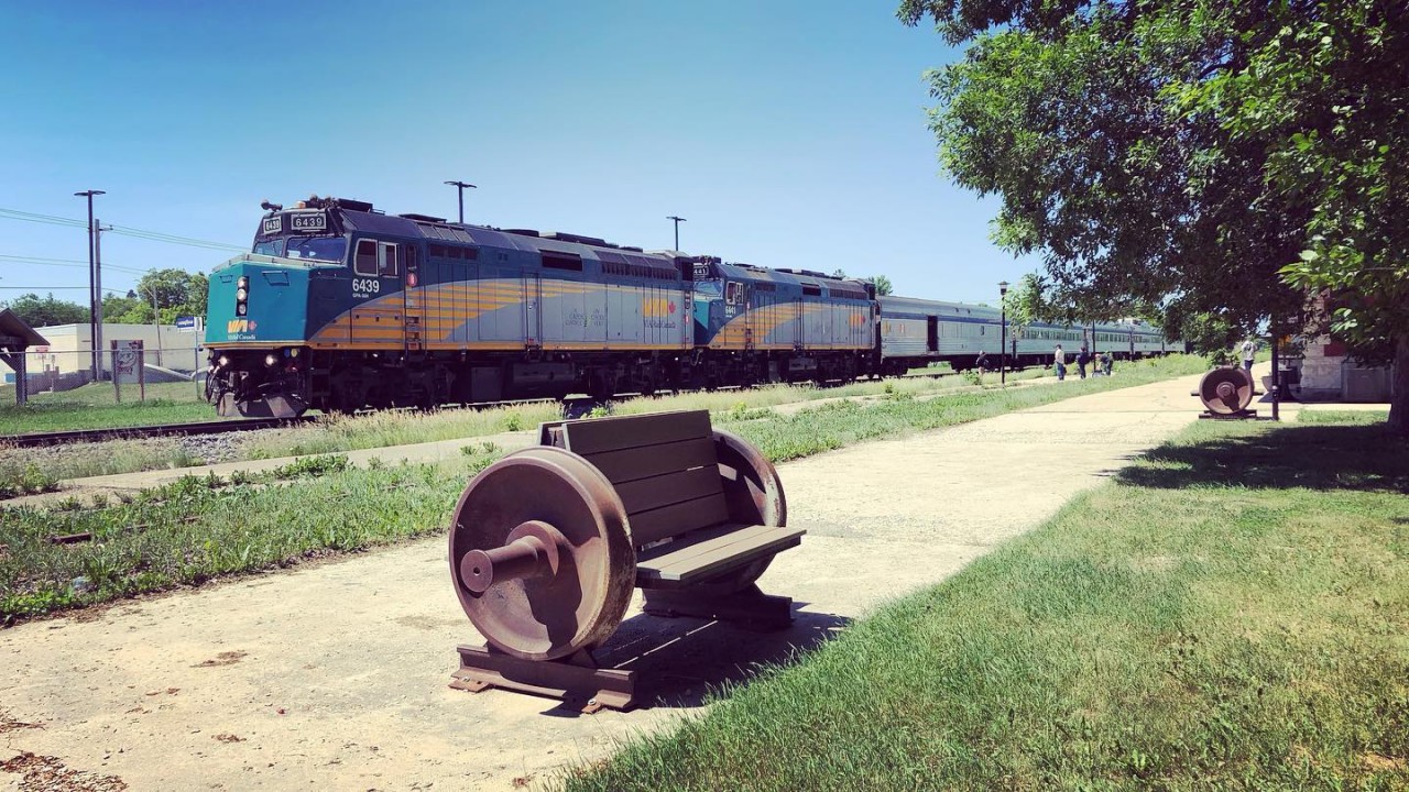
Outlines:
[[1208, 421], [568, 789], [1409, 789], [1409, 455]]

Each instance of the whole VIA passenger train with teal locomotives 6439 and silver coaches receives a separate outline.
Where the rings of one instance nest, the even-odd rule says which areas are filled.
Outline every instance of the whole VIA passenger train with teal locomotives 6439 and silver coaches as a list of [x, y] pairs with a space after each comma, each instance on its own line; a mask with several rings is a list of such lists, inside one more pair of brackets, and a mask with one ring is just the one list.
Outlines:
[[[349, 199], [263, 209], [251, 252], [210, 275], [206, 396], [221, 416], [821, 382], [999, 352], [993, 309], [878, 299], [813, 271]], [[1010, 354], [1037, 359], [1058, 334], [1164, 351], [1157, 330], [1136, 333], [1030, 326]]]

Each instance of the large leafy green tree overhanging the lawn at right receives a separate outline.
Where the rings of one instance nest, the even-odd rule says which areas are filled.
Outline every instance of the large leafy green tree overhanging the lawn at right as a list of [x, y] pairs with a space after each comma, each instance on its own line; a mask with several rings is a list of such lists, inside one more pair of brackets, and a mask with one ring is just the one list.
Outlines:
[[965, 58], [931, 73], [940, 159], [1000, 197], [1048, 297], [1157, 309], [1205, 345], [1293, 324], [1394, 349], [1409, 433], [1409, 6], [1402, 0], [903, 0]]

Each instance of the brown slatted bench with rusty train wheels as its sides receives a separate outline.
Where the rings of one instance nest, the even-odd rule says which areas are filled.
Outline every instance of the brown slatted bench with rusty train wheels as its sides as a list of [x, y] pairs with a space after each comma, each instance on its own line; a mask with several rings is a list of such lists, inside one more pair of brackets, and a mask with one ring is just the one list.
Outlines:
[[[786, 527], [768, 459], [714, 430], [709, 412], [552, 421], [538, 431], [540, 445], [483, 471], [457, 507], [457, 593], [489, 641], [461, 647], [457, 686], [586, 691], [589, 709], [627, 706], [634, 672], [602, 669], [590, 652], [616, 630], [633, 585], [652, 614], [790, 623], [792, 600], [764, 595], [755, 581], [806, 531]], [[562, 569], [581, 581], [562, 583]], [[514, 598], [523, 602], [504, 605]], [[555, 614], [555, 598], [573, 600], [571, 617]], [[538, 623], [555, 627], [540, 636]]]

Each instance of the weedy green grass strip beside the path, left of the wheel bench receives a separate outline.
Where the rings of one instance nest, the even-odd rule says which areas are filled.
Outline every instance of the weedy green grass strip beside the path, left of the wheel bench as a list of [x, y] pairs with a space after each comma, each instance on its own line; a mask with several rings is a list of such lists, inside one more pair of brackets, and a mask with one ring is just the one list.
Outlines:
[[[100, 496], [92, 507], [77, 497], [0, 507], [0, 619], [441, 533], [465, 482], [488, 464], [475, 455], [349, 469], [345, 457], [313, 457], [230, 481], [186, 476], [125, 502]], [[49, 541], [85, 533], [92, 540]]]

